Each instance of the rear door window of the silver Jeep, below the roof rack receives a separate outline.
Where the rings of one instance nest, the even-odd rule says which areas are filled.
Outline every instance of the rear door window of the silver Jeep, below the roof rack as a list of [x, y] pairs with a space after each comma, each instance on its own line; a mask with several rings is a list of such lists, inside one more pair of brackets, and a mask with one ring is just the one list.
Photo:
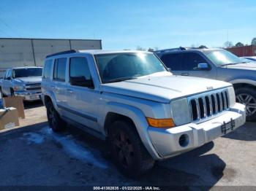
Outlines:
[[53, 79], [56, 81], [65, 81], [67, 58], [59, 58], [54, 61]]

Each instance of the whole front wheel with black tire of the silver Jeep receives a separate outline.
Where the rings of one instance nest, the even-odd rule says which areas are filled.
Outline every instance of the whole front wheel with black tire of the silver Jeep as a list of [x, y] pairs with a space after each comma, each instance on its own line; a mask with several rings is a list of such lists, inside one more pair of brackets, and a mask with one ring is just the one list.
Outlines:
[[154, 160], [140, 140], [131, 122], [116, 121], [109, 132], [110, 155], [118, 170], [137, 178], [154, 167]]

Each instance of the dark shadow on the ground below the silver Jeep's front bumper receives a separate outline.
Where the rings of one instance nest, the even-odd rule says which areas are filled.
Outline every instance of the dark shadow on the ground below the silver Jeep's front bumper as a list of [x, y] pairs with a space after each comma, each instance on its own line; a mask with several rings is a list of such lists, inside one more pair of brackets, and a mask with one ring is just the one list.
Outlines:
[[190, 152], [157, 163], [153, 171], [143, 176], [140, 184], [161, 186], [213, 187], [224, 175], [225, 162], [215, 154], [203, 155], [214, 147], [214, 142]]

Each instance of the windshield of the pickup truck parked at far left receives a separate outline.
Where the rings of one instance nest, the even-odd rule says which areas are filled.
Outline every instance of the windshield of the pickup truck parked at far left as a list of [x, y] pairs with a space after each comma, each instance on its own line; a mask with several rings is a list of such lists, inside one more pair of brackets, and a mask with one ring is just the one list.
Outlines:
[[40, 77], [42, 76], [42, 68], [15, 69], [13, 78], [17, 77]]

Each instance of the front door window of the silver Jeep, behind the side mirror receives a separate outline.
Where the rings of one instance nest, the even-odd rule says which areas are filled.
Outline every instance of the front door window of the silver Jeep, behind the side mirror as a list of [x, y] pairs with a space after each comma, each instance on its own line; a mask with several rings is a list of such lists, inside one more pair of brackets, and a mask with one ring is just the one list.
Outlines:
[[69, 77], [85, 77], [86, 80], [91, 79], [86, 58], [70, 58]]

